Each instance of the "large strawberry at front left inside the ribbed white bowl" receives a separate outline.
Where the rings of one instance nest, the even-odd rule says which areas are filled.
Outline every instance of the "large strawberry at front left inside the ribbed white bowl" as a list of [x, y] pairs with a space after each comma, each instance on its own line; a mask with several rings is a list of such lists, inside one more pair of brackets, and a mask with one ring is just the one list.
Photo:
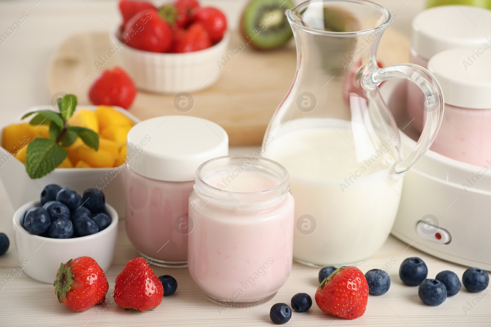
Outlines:
[[172, 43], [172, 29], [157, 11], [142, 10], [126, 23], [120, 39], [135, 49], [166, 52]]

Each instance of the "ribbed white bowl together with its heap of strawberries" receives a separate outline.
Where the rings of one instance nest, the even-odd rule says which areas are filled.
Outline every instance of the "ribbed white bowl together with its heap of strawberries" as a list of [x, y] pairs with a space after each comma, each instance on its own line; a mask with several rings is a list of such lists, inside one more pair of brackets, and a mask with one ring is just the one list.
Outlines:
[[123, 22], [111, 32], [120, 44], [120, 65], [141, 90], [192, 92], [213, 85], [217, 62], [228, 49], [223, 12], [196, 0], [176, 0], [155, 7], [146, 1], [120, 0]]

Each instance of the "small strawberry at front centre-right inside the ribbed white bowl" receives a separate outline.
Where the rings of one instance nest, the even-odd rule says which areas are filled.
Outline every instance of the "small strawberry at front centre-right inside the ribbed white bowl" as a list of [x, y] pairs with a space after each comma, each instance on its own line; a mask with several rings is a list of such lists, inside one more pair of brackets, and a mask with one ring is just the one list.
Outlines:
[[186, 30], [176, 30], [172, 52], [191, 52], [210, 48], [210, 36], [201, 23], [193, 23]]

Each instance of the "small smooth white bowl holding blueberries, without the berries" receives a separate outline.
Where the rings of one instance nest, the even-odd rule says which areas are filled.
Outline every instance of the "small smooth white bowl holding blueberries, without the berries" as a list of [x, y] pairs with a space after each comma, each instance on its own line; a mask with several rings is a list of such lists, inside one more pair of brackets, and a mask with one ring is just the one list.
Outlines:
[[106, 229], [88, 236], [56, 239], [30, 234], [22, 226], [26, 210], [35, 204], [39, 202], [30, 201], [21, 206], [13, 219], [17, 255], [19, 262], [25, 264], [27, 276], [53, 284], [61, 263], [84, 255], [94, 258], [104, 271], [109, 270], [118, 236], [118, 214], [112, 206], [106, 204], [111, 217]]

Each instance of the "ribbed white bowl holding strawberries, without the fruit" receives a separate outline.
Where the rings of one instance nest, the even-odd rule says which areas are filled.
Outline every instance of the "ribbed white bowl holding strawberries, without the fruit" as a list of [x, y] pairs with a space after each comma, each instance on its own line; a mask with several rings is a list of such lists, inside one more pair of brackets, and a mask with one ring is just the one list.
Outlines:
[[203, 90], [213, 85], [220, 76], [218, 62], [228, 50], [230, 33], [226, 32], [220, 42], [205, 49], [187, 53], [160, 53], [138, 50], [125, 45], [117, 31], [109, 34], [111, 44], [121, 49], [118, 62], [133, 78], [136, 87], [157, 93], [179, 93]]

